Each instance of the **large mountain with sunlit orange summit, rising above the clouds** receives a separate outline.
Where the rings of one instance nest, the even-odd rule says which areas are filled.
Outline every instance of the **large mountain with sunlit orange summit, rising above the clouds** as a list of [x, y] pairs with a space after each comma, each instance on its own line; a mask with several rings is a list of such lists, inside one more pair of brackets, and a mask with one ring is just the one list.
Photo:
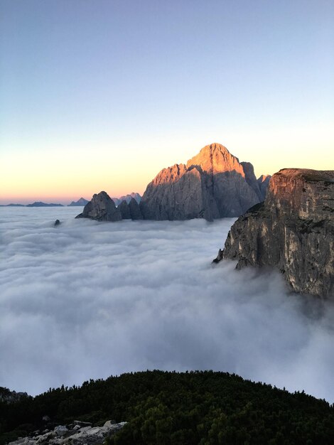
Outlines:
[[213, 220], [239, 216], [260, 200], [252, 164], [211, 144], [186, 165], [163, 168], [147, 186], [140, 208], [147, 220]]

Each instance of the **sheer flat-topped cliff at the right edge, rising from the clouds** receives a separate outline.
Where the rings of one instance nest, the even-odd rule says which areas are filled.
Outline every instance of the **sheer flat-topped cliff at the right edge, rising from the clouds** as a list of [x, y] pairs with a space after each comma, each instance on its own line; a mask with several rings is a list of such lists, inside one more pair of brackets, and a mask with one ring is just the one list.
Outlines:
[[216, 261], [276, 267], [291, 289], [334, 297], [334, 171], [286, 168], [242, 215]]

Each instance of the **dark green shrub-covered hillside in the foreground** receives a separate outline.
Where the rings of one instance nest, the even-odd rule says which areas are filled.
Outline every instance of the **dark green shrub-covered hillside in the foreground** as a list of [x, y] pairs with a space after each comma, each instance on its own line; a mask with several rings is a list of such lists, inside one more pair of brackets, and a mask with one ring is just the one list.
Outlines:
[[109, 445], [334, 443], [328, 402], [212, 371], [136, 372], [2, 401], [0, 443], [74, 419], [129, 422]]

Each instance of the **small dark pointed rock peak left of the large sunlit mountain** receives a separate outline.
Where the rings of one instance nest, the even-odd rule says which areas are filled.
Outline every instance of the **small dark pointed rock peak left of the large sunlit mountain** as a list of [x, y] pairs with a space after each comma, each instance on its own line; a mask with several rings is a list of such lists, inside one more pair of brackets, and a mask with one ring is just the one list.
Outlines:
[[109, 195], [102, 191], [92, 197], [80, 215], [75, 218], [90, 218], [97, 221], [120, 221], [122, 214], [114, 205], [114, 201]]

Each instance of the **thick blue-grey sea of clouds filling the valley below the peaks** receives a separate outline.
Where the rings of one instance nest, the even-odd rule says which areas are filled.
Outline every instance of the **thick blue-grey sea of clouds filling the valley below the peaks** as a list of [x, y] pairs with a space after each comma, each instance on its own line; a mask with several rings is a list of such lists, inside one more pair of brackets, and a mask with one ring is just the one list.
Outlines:
[[213, 266], [232, 219], [0, 211], [0, 386], [36, 394], [126, 371], [213, 369], [334, 401], [332, 305], [288, 294], [275, 272]]

